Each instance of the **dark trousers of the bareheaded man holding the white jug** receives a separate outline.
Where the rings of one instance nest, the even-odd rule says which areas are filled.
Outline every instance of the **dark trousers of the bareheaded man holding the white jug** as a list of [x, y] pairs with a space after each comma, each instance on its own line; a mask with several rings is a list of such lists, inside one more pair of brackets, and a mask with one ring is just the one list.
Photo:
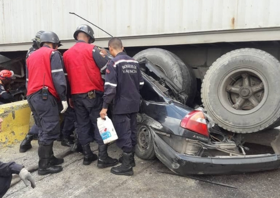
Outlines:
[[113, 124], [118, 135], [116, 144], [125, 153], [130, 153], [137, 145], [137, 113], [115, 114]]

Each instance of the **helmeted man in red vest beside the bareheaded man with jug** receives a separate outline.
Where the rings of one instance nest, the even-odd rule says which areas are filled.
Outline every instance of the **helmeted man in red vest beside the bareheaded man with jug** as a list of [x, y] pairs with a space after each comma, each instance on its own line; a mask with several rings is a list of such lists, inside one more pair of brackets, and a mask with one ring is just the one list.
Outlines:
[[[78, 139], [84, 153], [84, 165], [98, 159], [97, 166], [105, 168], [115, 166], [117, 159], [108, 156], [108, 145], [104, 145], [97, 128], [97, 118], [102, 109], [104, 83], [100, 70], [106, 68], [109, 58], [104, 49], [92, 45], [95, 41], [93, 29], [80, 25], [74, 32], [76, 44], [63, 54], [64, 64], [71, 87], [72, 98], [69, 103], [75, 108], [78, 123]], [[93, 126], [93, 130], [91, 130]], [[99, 145], [99, 156], [92, 153], [90, 142], [94, 139]]]

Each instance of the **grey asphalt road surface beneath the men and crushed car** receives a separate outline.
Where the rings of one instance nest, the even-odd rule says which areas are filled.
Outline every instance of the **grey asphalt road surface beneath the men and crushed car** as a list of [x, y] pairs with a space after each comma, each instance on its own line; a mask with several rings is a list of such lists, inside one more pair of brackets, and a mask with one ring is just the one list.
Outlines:
[[[37, 141], [27, 153], [19, 153], [19, 144], [0, 150], [0, 160], [16, 161], [26, 167], [38, 163]], [[55, 154], [66, 147], [55, 142]], [[92, 150], [97, 145], [92, 145]], [[95, 152], [97, 153], [97, 152]], [[109, 154], [117, 158], [121, 151], [112, 145]], [[97, 162], [84, 166], [82, 154], [65, 158], [63, 172], [38, 176], [32, 173], [37, 187], [25, 187], [24, 183], [13, 186], [4, 198], [278, 198], [280, 169], [232, 176], [197, 176], [200, 179], [224, 183], [232, 189], [193, 179], [158, 173], [169, 170], [158, 160], [144, 161], [136, 158], [134, 176], [116, 176], [110, 168], [98, 169]]]

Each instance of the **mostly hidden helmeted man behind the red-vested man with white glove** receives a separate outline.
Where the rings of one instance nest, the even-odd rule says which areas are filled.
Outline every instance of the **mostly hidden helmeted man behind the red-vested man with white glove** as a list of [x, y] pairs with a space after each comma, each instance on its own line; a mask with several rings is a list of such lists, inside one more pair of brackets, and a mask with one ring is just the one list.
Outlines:
[[[34, 51], [36, 51], [37, 49], [40, 48], [40, 36], [41, 34], [45, 32], [43, 30], [40, 30], [36, 33], [35, 38], [32, 39], [33, 41], [33, 45], [32, 47], [28, 50], [27, 54], [26, 54], [26, 60], [27, 58], [30, 56], [30, 54], [32, 54]], [[26, 78], [27, 78], [27, 84], [28, 84], [28, 70], [26, 69]], [[26, 88], [27, 88], [27, 84], [26, 84]], [[33, 139], [37, 139], [38, 138], [38, 134], [39, 134], [39, 128], [36, 124], [34, 124], [32, 126], [32, 128], [30, 129], [30, 131], [28, 132], [28, 134], [26, 135], [25, 139], [23, 140], [23, 142], [21, 143], [20, 146], [20, 153], [25, 153], [27, 152], [29, 149], [32, 148], [31, 145], [31, 141]]]

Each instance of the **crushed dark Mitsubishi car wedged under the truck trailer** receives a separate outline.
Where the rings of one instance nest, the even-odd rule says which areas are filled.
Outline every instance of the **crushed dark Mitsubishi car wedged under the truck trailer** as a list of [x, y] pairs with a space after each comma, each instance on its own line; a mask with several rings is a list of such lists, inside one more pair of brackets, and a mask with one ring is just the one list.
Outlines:
[[239, 174], [280, 167], [279, 135], [273, 139], [273, 149], [253, 153], [242, 134], [219, 128], [202, 107], [184, 105], [188, 96], [158, 66], [147, 58], [138, 62], [144, 78], [137, 117], [135, 153], [139, 158], [157, 157], [179, 175]]

